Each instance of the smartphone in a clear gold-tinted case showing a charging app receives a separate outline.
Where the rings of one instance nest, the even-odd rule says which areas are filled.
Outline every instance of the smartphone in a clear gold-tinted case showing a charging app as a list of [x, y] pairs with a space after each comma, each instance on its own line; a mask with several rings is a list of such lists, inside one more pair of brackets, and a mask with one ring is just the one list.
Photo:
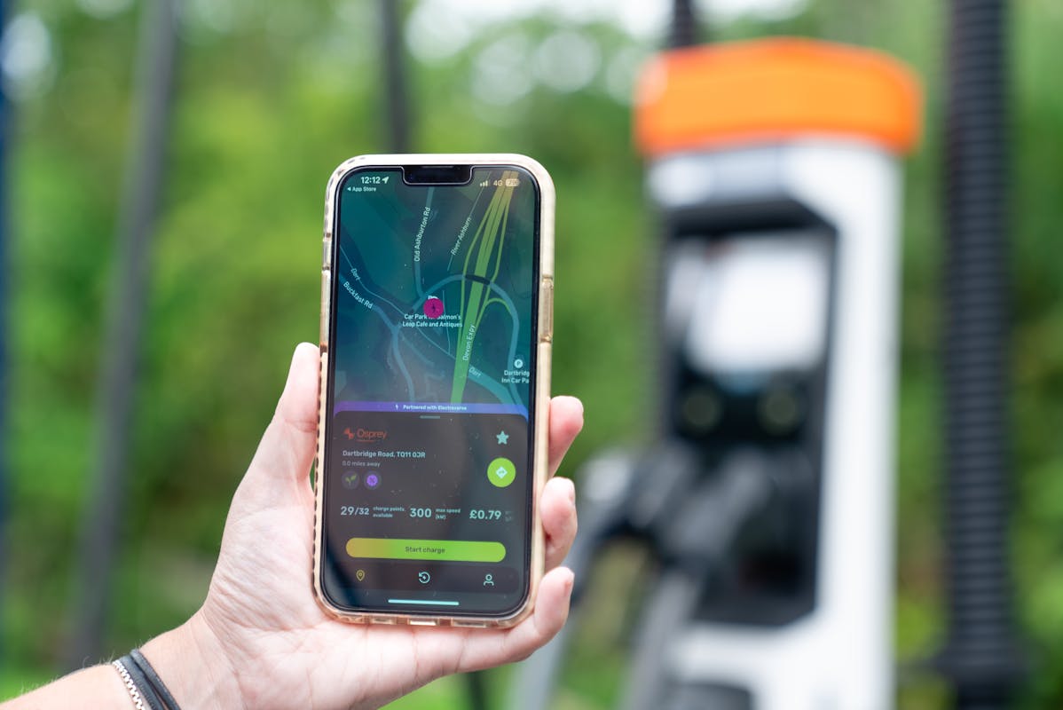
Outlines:
[[328, 182], [314, 581], [358, 622], [507, 626], [542, 574], [554, 187], [522, 155]]

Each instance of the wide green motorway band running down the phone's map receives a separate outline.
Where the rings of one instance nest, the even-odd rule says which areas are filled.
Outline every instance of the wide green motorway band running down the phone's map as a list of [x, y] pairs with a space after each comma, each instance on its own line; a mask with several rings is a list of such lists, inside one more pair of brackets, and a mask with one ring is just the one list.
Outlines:
[[[466, 253], [465, 280], [461, 284], [461, 327], [458, 329], [457, 348], [454, 351], [454, 381], [451, 389], [451, 402], [461, 402], [466, 383], [469, 379], [469, 365], [472, 358], [472, 346], [476, 340], [479, 321], [484, 317], [488, 303], [484, 298], [486, 289], [490, 289], [499, 275], [502, 264], [502, 248], [505, 242], [506, 226], [509, 222], [509, 205], [513, 199], [513, 187], [507, 187], [507, 179], [517, 178], [517, 171], [505, 170], [499, 187], [491, 197], [476, 233], [473, 235], [469, 251]], [[513, 181], [514, 182], [514, 181]], [[473, 255], [475, 254], [475, 259]], [[492, 256], [494, 258], [492, 259]], [[493, 261], [494, 270], [490, 278], [488, 270]], [[470, 268], [471, 265], [471, 268]], [[468, 298], [466, 287], [468, 286]]]

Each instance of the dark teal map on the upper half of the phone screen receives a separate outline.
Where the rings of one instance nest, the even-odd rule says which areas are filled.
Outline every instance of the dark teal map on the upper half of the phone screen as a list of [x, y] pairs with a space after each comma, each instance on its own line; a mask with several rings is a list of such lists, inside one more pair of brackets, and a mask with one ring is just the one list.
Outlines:
[[334, 412], [527, 417], [535, 201], [512, 168], [478, 168], [461, 186], [407, 185], [399, 170], [347, 178]]

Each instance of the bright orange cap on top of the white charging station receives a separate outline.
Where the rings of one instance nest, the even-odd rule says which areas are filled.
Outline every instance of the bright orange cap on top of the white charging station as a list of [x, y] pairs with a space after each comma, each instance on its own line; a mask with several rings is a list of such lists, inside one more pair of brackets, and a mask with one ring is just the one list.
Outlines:
[[845, 45], [776, 38], [672, 50], [635, 92], [645, 155], [777, 141], [862, 138], [897, 153], [921, 130], [921, 91], [902, 63]]

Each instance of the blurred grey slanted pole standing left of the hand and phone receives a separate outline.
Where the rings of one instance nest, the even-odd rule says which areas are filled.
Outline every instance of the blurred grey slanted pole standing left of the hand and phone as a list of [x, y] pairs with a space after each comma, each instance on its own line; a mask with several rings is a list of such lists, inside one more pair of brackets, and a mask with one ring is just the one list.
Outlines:
[[112, 570], [123, 518], [130, 426], [148, 291], [152, 232], [164, 183], [173, 100], [178, 0], [145, 3], [140, 29], [138, 115], [119, 217], [115, 270], [103, 340], [92, 500], [82, 527], [81, 568], [73, 602], [75, 629], [67, 663], [81, 667], [102, 650]]

